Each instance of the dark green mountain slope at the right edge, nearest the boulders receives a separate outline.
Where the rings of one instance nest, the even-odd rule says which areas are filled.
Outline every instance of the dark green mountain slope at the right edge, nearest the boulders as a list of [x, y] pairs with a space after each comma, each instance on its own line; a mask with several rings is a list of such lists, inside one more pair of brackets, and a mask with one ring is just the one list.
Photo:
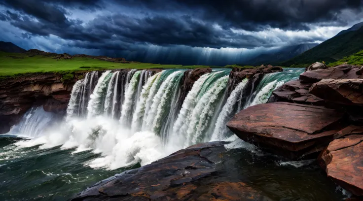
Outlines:
[[[354, 28], [356, 29], [356, 28]], [[353, 30], [353, 29], [352, 29]], [[363, 49], [363, 27], [336, 35], [301, 55], [283, 62], [286, 67], [304, 67], [315, 62], [332, 63]]]

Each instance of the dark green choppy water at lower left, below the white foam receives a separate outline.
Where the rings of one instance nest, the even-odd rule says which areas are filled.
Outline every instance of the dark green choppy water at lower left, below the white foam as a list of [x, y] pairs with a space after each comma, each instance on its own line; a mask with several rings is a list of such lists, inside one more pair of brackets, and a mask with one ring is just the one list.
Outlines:
[[0, 137], [0, 201], [65, 201], [100, 180], [126, 169], [92, 169], [84, 163], [99, 157], [72, 154], [59, 147], [16, 150], [14, 138]]

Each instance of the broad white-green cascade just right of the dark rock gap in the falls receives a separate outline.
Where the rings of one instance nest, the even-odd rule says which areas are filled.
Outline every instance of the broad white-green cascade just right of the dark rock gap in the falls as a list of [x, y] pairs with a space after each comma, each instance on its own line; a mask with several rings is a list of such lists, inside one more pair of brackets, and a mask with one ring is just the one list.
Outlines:
[[220, 110], [228, 74], [229, 70], [221, 70], [202, 75], [186, 96], [173, 126], [173, 136], [183, 141], [184, 147], [211, 136], [206, 128], [214, 124], [213, 117]]

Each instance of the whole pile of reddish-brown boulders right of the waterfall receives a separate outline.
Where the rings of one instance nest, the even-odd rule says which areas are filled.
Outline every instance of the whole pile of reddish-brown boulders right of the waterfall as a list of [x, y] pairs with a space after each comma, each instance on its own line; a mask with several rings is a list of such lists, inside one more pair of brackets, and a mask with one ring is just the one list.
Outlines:
[[275, 90], [270, 103], [241, 111], [227, 126], [278, 155], [317, 158], [336, 184], [363, 196], [363, 67], [315, 69]]

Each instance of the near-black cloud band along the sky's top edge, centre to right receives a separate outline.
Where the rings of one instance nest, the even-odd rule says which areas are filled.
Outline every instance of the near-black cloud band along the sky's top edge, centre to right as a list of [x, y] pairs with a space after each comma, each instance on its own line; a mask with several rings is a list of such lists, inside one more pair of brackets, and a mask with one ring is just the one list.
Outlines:
[[[116, 0], [125, 3], [125, 0]], [[286, 30], [308, 30], [305, 23], [332, 22], [346, 26], [338, 14], [343, 9], [362, 12], [363, 0], [126, 0], [128, 5], [158, 10], [193, 10], [204, 20], [224, 27], [248, 31], [265, 26]]]

